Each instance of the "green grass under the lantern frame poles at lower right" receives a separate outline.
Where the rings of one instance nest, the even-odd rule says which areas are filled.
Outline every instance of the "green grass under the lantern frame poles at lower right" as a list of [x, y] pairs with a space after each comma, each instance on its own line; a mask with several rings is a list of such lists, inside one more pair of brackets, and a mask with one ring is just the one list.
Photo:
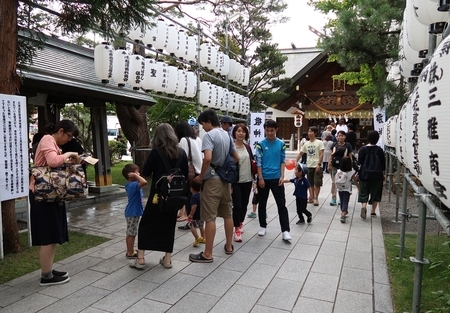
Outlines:
[[[387, 264], [391, 279], [395, 312], [411, 312], [414, 290], [416, 235], [406, 235], [404, 259], [398, 259], [400, 235], [384, 235]], [[450, 312], [450, 246], [445, 235], [429, 235], [425, 239], [424, 258], [430, 261], [423, 268], [420, 312]], [[437, 294], [438, 291], [443, 291]], [[448, 294], [446, 297], [445, 294]]]

